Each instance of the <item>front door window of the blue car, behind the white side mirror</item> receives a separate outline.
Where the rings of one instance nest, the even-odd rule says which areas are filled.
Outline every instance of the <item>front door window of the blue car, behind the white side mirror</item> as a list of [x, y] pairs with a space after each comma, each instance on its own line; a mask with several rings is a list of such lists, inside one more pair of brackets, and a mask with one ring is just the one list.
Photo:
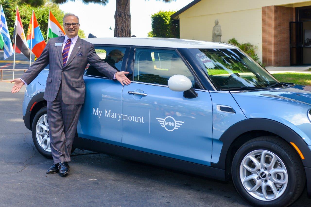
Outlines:
[[188, 77], [194, 86], [194, 77], [174, 50], [136, 48], [133, 80], [167, 85], [173, 75]]

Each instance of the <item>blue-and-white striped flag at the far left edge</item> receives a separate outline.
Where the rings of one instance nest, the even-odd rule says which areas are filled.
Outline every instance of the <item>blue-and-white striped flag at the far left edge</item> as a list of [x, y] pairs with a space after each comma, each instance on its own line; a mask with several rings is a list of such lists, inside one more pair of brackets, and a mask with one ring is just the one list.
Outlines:
[[2, 5], [0, 7], [0, 47], [1, 49], [3, 48], [4, 60], [13, 55], [14, 50], [9, 30], [7, 29], [7, 20], [5, 19]]

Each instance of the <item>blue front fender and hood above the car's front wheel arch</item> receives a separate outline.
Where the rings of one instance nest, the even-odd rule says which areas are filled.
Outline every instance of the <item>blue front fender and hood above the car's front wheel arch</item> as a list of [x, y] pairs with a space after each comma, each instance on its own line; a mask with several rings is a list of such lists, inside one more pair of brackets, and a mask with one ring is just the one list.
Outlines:
[[296, 87], [231, 93], [245, 116], [275, 120], [294, 130], [311, 146], [311, 92]]

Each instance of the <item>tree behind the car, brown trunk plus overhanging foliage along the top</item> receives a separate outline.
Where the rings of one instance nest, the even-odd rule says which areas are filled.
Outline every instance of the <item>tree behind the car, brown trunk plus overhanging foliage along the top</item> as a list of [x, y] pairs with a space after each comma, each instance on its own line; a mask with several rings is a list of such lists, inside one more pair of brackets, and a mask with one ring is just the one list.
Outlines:
[[[67, 1], [75, 0], [52, 0], [55, 3], [63, 4]], [[157, 0], [163, 2], [172, 2], [176, 0]], [[40, 6], [45, 3], [44, 0], [23, 0], [32, 6]], [[109, 0], [82, 0], [83, 3], [97, 3], [106, 5]], [[114, 14], [114, 37], [131, 37], [131, 13], [130, 13], [131, 0], [117, 0], [116, 12]]]

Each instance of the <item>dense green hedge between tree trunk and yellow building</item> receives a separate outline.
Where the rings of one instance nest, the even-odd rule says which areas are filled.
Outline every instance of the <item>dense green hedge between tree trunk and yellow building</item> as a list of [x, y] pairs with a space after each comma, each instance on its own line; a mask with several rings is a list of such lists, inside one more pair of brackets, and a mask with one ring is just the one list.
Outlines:
[[172, 20], [176, 11], [159, 11], [151, 15], [152, 31], [148, 37], [179, 38], [179, 21]]

